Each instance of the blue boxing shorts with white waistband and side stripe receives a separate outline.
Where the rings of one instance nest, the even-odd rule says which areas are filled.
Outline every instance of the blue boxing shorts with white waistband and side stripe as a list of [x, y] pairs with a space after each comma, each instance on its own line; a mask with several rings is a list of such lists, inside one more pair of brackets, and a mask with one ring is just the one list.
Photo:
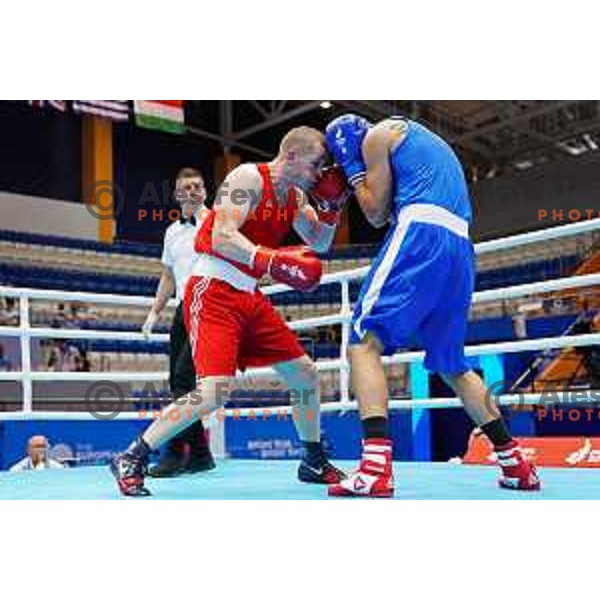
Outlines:
[[433, 204], [406, 206], [362, 285], [350, 343], [371, 332], [386, 355], [416, 343], [428, 370], [469, 370], [464, 343], [474, 276], [468, 222]]

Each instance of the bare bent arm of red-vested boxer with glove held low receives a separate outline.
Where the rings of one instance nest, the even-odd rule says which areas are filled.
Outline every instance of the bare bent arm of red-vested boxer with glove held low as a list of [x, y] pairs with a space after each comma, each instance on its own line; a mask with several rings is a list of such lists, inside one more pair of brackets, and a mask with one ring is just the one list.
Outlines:
[[214, 206], [212, 244], [215, 252], [230, 260], [252, 265], [256, 246], [239, 229], [256, 207], [261, 191], [261, 177], [254, 165], [241, 165], [226, 177]]

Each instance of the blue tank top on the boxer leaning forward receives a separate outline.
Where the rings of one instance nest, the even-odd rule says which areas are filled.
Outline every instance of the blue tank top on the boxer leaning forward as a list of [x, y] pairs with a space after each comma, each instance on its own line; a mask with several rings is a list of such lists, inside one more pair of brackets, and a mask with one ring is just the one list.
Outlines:
[[415, 121], [406, 121], [404, 140], [391, 153], [394, 218], [409, 204], [436, 204], [472, 220], [469, 190], [460, 161], [439, 136]]

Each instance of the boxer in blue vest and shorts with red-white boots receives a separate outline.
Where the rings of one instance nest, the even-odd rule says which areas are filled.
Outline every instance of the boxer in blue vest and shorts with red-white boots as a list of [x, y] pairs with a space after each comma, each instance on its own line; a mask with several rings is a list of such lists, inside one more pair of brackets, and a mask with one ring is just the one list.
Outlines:
[[352, 318], [349, 360], [363, 425], [362, 460], [329, 494], [394, 494], [381, 357], [413, 341], [425, 350], [425, 367], [444, 378], [494, 445], [499, 485], [540, 489], [535, 468], [499, 413], [486, 405], [486, 388], [465, 360], [475, 261], [469, 192], [452, 148], [415, 121], [371, 124], [352, 114], [333, 120], [326, 139], [368, 221], [375, 227], [391, 223]]

